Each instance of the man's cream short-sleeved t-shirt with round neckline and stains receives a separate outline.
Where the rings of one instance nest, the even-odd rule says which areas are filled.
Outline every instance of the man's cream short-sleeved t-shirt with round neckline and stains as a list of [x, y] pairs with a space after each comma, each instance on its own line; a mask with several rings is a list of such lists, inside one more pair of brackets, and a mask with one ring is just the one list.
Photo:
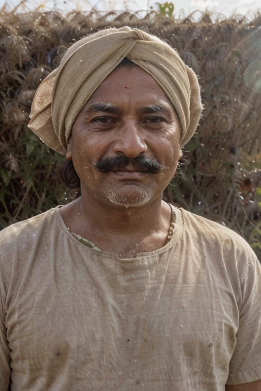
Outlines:
[[0, 233], [1, 391], [224, 391], [261, 378], [261, 267], [177, 211], [134, 259], [89, 248], [59, 208]]

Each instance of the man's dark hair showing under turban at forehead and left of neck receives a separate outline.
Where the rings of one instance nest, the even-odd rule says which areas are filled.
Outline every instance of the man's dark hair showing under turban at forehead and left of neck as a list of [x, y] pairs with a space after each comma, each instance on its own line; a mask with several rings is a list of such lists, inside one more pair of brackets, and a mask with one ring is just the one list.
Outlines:
[[[134, 64], [131, 60], [127, 59], [126, 57], [115, 67], [116, 68], [125, 68], [125, 67], [134, 67], [138, 66]], [[63, 182], [68, 186], [70, 189], [77, 189], [79, 190], [78, 195], [80, 193], [81, 189], [81, 181], [79, 176], [77, 175], [72, 160], [66, 160], [62, 163], [60, 170], [59, 170], [60, 177], [62, 178]], [[79, 197], [80, 197], [79, 195]]]

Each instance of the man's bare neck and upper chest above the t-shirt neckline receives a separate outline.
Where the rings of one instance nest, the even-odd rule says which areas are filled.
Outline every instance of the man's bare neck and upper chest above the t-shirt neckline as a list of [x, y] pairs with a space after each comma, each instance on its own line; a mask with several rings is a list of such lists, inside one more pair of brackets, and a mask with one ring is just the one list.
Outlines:
[[108, 200], [99, 203], [83, 194], [62, 207], [61, 214], [70, 232], [92, 241], [102, 250], [117, 254], [120, 243], [120, 256], [126, 258], [130, 254], [134, 256], [134, 246], [136, 252], [162, 247], [171, 220], [170, 207], [161, 198], [143, 206], [125, 208]]

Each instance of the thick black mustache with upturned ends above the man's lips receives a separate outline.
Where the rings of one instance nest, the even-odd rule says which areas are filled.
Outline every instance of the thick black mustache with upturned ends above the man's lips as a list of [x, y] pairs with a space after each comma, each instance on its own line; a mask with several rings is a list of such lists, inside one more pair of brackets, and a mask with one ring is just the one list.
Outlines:
[[97, 163], [93, 163], [95, 169], [106, 173], [111, 170], [120, 170], [126, 167], [128, 164], [133, 164], [140, 171], [148, 171], [153, 174], [158, 174], [166, 167], [158, 162], [155, 158], [147, 156], [137, 156], [135, 158], [128, 158], [126, 156], [107, 157], [99, 160]]

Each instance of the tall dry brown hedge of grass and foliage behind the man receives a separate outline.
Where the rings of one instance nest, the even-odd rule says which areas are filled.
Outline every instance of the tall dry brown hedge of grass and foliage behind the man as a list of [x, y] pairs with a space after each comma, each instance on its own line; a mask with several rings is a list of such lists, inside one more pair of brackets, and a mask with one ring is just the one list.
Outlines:
[[[166, 11], [166, 10], [165, 10]], [[261, 260], [261, 16], [0, 11], [0, 229], [79, 195], [64, 157], [27, 127], [40, 82], [87, 34], [129, 25], [176, 48], [199, 76], [204, 111], [165, 200], [240, 233]], [[90, 53], [95, 55], [95, 53]]]

